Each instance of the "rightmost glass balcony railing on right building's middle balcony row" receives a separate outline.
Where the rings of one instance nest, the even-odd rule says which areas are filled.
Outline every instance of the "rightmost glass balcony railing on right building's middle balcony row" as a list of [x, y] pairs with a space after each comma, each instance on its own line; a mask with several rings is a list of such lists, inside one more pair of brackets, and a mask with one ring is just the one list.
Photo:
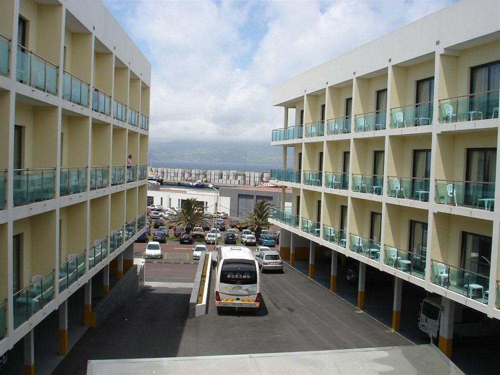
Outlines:
[[495, 204], [494, 182], [436, 179], [435, 202], [492, 211]]

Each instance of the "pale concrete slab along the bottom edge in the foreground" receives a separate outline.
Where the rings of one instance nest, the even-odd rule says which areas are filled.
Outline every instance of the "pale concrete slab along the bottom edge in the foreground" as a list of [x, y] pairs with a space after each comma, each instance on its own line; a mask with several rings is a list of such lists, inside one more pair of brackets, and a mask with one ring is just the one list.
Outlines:
[[142, 359], [89, 360], [87, 375], [462, 374], [434, 345]]

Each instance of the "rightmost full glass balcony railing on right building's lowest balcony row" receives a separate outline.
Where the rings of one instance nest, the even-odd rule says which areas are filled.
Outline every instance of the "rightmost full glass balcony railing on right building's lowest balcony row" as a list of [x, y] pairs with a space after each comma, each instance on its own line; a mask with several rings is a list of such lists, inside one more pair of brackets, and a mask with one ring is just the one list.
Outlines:
[[467, 298], [488, 303], [488, 276], [431, 259], [430, 281]]

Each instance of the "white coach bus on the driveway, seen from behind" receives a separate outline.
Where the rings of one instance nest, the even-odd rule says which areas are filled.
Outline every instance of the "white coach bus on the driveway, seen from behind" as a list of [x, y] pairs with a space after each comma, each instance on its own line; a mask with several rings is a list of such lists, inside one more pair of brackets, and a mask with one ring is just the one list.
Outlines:
[[260, 274], [249, 248], [221, 246], [215, 277], [217, 307], [259, 307]]

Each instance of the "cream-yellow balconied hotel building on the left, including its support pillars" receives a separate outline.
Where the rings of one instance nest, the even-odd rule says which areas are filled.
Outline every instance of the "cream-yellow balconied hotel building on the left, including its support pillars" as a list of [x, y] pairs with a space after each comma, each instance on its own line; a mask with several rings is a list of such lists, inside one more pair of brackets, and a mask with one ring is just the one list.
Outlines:
[[[100, 1], [0, 1], [0, 355], [118, 278], [146, 208], [150, 64]], [[127, 160], [127, 155], [131, 158]], [[100, 274], [99, 273], [99, 274]], [[64, 324], [64, 319], [66, 324]]]

